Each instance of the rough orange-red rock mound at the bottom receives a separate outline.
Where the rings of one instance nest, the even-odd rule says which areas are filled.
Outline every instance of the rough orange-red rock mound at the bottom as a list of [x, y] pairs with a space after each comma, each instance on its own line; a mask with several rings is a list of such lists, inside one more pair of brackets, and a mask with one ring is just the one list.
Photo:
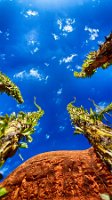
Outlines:
[[93, 148], [56, 151], [29, 159], [0, 187], [9, 191], [2, 200], [100, 200], [112, 195], [112, 174]]

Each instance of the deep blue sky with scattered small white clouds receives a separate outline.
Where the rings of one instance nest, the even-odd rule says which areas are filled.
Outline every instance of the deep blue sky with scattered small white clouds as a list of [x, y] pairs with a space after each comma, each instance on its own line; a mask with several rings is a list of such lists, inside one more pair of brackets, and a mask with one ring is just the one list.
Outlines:
[[[76, 79], [73, 71], [90, 51], [97, 50], [112, 30], [111, 0], [0, 0], [0, 70], [21, 89], [24, 104], [0, 96], [1, 115], [45, 110], [33, 143], [20, 150], [24, 161], [52, 150], [86, 149], [82, 136], [74, 136], [67, 104], [89, 109], [94, 99], [104, 107], [111, 102], [111, 67], [99, 69], [91, 79]], [[17, 154], [1, 169], [4, 176], [22, 163]]]

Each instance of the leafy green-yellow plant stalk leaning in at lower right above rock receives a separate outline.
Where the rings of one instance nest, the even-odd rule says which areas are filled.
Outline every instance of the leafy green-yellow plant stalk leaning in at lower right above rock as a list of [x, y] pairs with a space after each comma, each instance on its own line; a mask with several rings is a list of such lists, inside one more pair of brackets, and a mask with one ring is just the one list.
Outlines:
[[[93, 102], [94, 103], [94, 102]], [[112, 104], [109, 104], [103, 110], [95, 112], [90, 108], [90, 112], [85, 110], [83, 106], [76, 107], [71, 102], [67, 106], [75, 133], [83, 133], [93, 145], [97, 155], [112, 169], [112, 128], [102, 120], [107, 119], [105, 114], [112, 110]], [[95, 106], [97, 106], [94, 103]]]

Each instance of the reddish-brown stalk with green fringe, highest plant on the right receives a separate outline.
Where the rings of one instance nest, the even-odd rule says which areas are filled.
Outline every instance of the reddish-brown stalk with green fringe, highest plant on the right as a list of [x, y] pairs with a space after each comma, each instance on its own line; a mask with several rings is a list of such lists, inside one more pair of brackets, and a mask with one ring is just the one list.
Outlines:
[[112, 33], [105, 38], [105, 42], [99, 46], [97, 51], [90, 52], [87, 55], [87, 59], [82, 65], [82, 71], [74, 72], [75, 77], [91, 77], [97, 68], [102, 67], [102, 69], [106, 69], [112, 64]]

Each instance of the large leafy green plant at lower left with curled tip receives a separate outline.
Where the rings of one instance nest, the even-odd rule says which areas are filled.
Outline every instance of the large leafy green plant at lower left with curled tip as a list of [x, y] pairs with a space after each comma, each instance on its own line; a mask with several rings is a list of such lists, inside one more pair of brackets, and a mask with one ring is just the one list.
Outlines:
[[[38, 105], [36, 105], [38, 106]], [[32, 142], [31, 134], [44, 111], [38, 106], [37, 112], [19, 112], [16, 116], [0, 116], [0, 165], [11, 157], [16, 150], [27, 148], [27, 142]]]

